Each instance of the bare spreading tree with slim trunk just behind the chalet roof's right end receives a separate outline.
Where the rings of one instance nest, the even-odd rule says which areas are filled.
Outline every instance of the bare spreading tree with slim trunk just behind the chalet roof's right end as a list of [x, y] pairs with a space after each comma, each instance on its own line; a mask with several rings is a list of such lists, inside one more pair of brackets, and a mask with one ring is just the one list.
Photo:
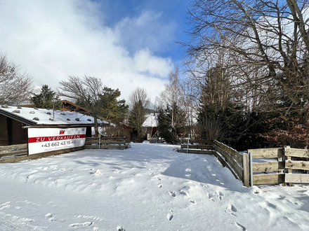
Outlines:
[[58, 94], [73, 99], [74, 102], [90, 111], [94, 119], [96, 137], [98, 137], [98, 119], [100, 118], [104, 94], [104, 86], [100, 78], [84, 76], [69, 76], [67, 81], [60, 81]]

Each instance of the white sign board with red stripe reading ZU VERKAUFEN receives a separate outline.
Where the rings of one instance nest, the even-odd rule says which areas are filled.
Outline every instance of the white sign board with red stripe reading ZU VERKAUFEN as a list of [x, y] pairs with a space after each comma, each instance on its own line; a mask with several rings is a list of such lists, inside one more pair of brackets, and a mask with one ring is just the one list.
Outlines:
[[86, 128], [28, 128], [29, 155], [84, 146]]

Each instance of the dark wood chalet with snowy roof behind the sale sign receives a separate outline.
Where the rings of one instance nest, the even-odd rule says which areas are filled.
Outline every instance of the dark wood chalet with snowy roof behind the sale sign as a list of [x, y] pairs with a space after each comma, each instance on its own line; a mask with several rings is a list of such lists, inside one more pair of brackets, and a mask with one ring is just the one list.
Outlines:
[[[98, 120], [98, 124], [109, 125], [103, 120]], [[29, 127], [86, 127], [86, 137], [91, 137], [93, 126], [93, 117], [74, 111], [0, 106], [0, 146], [27, 144]]]

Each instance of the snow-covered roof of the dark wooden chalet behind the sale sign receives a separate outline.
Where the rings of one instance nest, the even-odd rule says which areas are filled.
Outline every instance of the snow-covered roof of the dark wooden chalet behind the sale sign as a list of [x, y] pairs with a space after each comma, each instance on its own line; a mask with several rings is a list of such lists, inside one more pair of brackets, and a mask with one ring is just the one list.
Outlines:
[[[15, 120], [20, 120], [26, 125], [93, 125], [91, 116], [86, 116], [74, 111], [35, 109], [20, 106], [0, 106], [0, 114]], [[104, 120], [98, 120], [99, 124], [108, 125]]]

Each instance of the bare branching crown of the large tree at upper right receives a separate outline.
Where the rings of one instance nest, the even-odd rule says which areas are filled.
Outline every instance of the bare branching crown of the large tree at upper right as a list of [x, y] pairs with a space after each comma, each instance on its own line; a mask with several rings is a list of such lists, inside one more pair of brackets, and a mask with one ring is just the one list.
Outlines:
[[308, 118], [308, 3], [194, 1], [189, 10], [192, 40], [185, 44], [194, 69], [213, 68], [207, 57], [226, 50], [222, 68], [233, 78], [233, 91], [243, 93], [243, 103]]

